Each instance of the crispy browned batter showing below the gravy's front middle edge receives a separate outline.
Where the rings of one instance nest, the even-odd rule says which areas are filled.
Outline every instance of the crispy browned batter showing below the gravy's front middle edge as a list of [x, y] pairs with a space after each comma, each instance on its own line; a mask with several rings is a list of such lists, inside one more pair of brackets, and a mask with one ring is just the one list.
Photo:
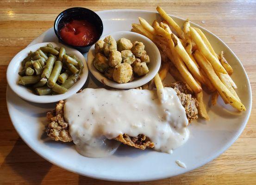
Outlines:
[[139, 134], [137, 137], [130, 137], [127, 134], [120, 134], [114, 139], [131, 147], [139, 148], [142, 150], [146, 149], [147, 147], [153, 148], [155, 146], [154, 142], [150, 142], [150, 139], [144, 134]]

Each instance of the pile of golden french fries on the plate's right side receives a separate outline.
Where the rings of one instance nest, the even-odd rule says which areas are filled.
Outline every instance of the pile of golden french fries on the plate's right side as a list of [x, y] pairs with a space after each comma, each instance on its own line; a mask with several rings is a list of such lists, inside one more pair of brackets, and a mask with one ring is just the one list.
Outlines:
[[[199, 102], [199, 115], [206, 120], [209, 120], [209, 116], [203, 103], [202, 90], [212, 94], [212, 105], [220, 96], [225, 104], [245, 111], [235, 91], [237, 86], [230, 77], [233, 69], [225, 60], [224, 52], [220, 56], [216, 54], [205, 34], [199, 28], [191, 27], [188, 19], [181, 29], [161, 7], [157, 6], [156, 10], [162, 22], [155, 20], [150, 25], [139, 17], [140, 24], [132, 24], [131, 31], [148, 37], [158, 47], [162, 58], [160, 79], [164, 80], [169, 72], [175, 80], [184, 82]], [[152, 83], [154, 80], [143, 88], [149, 88]]]

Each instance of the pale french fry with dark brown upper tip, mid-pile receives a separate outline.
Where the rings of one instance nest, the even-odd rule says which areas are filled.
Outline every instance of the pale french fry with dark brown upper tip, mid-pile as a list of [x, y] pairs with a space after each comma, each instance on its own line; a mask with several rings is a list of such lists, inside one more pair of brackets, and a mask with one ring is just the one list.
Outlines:
[[205, 84], [204, 76], [201, 74], [197, 65], [195, 65], [194, 61], [189, 57], [186, 50], [182, 46], [180, 40], [175, 37], [175, 35], [171, 34], [172, 41], [174, 43], [175, 51], [181, 57], [182, 61], [186, 64], [188, 70], [196, 77], [201, 83]]

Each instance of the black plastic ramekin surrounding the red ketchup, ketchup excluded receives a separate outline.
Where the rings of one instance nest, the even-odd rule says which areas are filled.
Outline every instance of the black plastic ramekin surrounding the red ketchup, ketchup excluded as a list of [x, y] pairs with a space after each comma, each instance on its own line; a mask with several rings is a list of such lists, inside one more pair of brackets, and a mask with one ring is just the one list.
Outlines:
[[54, 31], [56, 36], [59, 38], [59, 41], [67, 46], [70, 46], [72, 48], [75, 48], [79, 50], [81, 53], [86, 53], [89, 51], [90, 47], [94, 44], [86, 45], [86, 46], [73, 46], [65, 41], [62, 40], [61, 35], [60, 35], [60, 30], [64, 26], [64, 24], [70, 22], [71, 20], [87, 20], [93, 25], [96, 26], [96, 29], [98, 31], [98, 41], [102, 35], [103, 32], [103, 23], [100, 17], [92, 10], [89, 10], [87, 8], [82, 8], [82, 7], [73, 7], [69, 8], [67, 10], [64, 10], [61, 12], [57, 18], [55, 19], [54, 22]]

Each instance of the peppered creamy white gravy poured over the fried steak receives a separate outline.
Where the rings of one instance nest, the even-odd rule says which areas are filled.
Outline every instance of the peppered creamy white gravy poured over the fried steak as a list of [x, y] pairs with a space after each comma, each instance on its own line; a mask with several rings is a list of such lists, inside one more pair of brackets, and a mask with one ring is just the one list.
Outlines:
[[87, 157], [113, 154], [119, 134], [144, 134], [153, 149], [171, 153], [184, 144], [189, 131], [184, 107], [174, 89], [164, 88], [165, 101], [156, 90], [84, 89], [66, 99], [64, 117], [77, 151]]

